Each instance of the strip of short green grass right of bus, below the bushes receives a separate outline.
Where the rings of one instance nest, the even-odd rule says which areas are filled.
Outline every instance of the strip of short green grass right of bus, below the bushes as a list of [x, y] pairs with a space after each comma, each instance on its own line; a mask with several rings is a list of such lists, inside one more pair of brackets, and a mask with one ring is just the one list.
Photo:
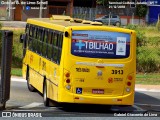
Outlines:
[[137, 74], [136, 84], [160, 85], [160, 74], [158, 73]]

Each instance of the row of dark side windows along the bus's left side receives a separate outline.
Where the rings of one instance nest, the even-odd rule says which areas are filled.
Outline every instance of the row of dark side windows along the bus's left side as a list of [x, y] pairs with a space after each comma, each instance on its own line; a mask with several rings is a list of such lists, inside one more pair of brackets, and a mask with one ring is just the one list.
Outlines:
[[[60, 64], [62, 47], [63, 47], [63, 32], [49, 29], [49, 28], [43, 28], [41, 26], [37, 26], [29, 23], [27, 23], [25, 31], [26, 33], [28, 33], [27, 46], [29, 50], [31, 50], [32, 52], [35, 52], [41, 57], [49, 59], [55, 64], [58, 64], [58, 65]], [[47, 37], [46, 40], [44, 40], [45, 34]], [[49, 42], [49, 34], [51, 35], [50, 42]], [[33, 50], [33, 40], [36, 43], [36, 47], [34, 48], [34, 50]], [[46, 48], [45, 48], [46, 51], [43, 54], [43, 48], [45, 44], [46, 44]], [[51, 49], [50, 57], [48, 55], [49, 46]], [[56, 56], [54, 56], [54, 54]]]

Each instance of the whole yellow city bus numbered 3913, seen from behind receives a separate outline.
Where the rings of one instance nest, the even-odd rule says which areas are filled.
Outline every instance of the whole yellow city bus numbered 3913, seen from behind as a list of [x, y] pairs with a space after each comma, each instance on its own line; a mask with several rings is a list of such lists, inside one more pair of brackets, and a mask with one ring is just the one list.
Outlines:
[[44, 105], [133, 105], [136, 34], [67, 16], [27, 20], [23, 77]]

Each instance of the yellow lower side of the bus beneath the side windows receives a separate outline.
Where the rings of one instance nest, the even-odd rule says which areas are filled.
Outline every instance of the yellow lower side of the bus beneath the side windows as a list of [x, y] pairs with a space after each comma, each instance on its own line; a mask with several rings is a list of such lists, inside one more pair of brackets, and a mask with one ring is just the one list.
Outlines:
[[23, 64], [23, 77], [26, 78], [27, 65], [29, 66], [30, 84], [43, 93], [44, 78], [47, 81], [48, 98], [57, 101], [58, 81], [60, 78], [59, 66], [38, 54], [27, 50]]

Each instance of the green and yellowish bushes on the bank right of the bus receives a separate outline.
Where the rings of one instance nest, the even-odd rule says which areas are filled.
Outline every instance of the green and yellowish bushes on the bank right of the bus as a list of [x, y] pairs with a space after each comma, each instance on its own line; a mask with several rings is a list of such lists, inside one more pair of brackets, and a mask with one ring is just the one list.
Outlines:
[[128, 25], [126, 28], [136, 31], [137, 72], [160, 71], [160, 36], [152, 35], [146, 37], [144, 31], [148, 27], [141, 28], [137, 25]]

